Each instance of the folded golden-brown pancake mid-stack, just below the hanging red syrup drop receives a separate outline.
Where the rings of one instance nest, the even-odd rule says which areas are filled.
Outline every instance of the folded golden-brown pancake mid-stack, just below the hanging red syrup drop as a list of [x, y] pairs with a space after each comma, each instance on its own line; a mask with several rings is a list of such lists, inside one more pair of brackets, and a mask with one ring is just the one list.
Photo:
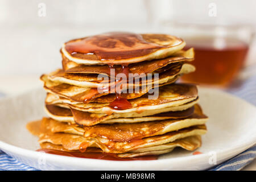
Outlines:
[[45, 110], [49, 117], [57, 121], [69, 122], [72, 124], [75, 124], [77, 122], [77, 124], [81, 126], [92, 126], [98, 123], [137, 123], [163, 119], [177, 119], [177, 115], [179, 115], [179, 118], [184, 118], [185, 115], [188, 117], [189, 114], [192, 114], [193, 106], [198, 101], [199, 100], [197, 99], [195, 101], [188, 102], [180, 106], [167, 107], [165, 109], [148, 110], [143, 112], [135, 111], [130, 113], [102, 114], [72, 109], [74, 117], [72, 111], [69, 110], [69, 107], [65, 108], [57, 105], [46, 105]]

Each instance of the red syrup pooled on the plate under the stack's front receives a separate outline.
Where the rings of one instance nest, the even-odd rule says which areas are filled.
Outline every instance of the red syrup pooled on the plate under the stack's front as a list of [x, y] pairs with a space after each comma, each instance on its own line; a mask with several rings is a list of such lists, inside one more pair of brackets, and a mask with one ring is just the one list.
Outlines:
[[156, 155], [148, 155], [148, 156], [140, 156], [134, 158], [119, 158], [117, 154], [109, 154], [109, 153], [97, 153], [97, 152], [63, 152], [51, 149], [39, 149], [36, 151], [44, 151], [47, 154], [55, 154], [55, 155], [63, 155], [63, 156], [71, 156], [76, 158], [88, 158], [88, 159], [104, 159], [104, 160], [156, 160], [158, 156]]

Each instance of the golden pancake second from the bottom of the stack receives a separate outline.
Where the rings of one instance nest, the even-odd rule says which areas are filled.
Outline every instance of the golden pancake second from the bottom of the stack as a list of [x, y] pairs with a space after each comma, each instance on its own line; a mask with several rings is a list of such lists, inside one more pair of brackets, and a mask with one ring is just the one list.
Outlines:
[[161, 144], [173, 142], [177, 139], [191, 137], [193, 135], [202, 135], [207, 132], [205, 125], [196, 125], [163, 135], [156, 135], [154, 137], [147, 137], [139, 140], [135, 139], [129, 142], [114, 142], [101, 137], [85, 138], [81, 135], [68, 133], [52, 133], [49, 129], [49, 119], [43, 118], [39, 143], [49, 142], [52, 144], [62, 145], [67, 150], [79, 150], [83, 146], [85, 149], [87, 147], [99, 147], [102, 151], [111, 153], [121, 153], [137, 150], [138, 148], [159, 146]]

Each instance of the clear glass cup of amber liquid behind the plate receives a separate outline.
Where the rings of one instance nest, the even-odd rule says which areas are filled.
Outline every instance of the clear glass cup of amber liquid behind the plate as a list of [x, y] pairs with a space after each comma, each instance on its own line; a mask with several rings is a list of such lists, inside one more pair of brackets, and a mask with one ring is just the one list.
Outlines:
[[176, 22], [166, 28], [185, 40], [185, 49], [195, 49], [191, 64], [196, 71], [183, 75], [181, 81], [217, 87], [228, 87], [236, 80], [254, 35], [253, 28], [238, 24]]

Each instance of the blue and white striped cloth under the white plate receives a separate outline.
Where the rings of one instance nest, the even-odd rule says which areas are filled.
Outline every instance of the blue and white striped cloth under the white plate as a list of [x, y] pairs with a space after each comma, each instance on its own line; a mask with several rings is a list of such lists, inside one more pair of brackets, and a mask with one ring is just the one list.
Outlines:
[[[251, 77], [249, 80], [243, 83], [242, 87], [239, 89], [228, 90], [228, 92], [241, 97], [248, 102], [251, 102], [251, 104], [256, 105], [256, 76]], [[241, 170], [255, 158], [256, 146], [253, 146], [246, 151], [243, 151], [241, 154], [234, 156], [234, 158], [210, 169], [210, 171]], [[18, 160], [0, 151], [0, 171], [1, 170], [34, 171], [37, 169], [27, 166], [26, 164], [22, 164]]]

